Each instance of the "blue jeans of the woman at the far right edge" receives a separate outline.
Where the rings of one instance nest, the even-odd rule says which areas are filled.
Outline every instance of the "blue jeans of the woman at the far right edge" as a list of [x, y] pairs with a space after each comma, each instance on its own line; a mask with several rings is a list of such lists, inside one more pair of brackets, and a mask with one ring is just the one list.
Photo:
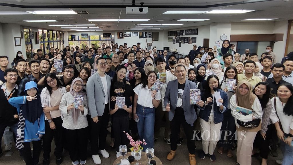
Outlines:
[[[286, 134], [285, 134], [285, 136], [286, 136]], [[288, 136], [286, 136], [286, 137], [288, 137]], [[291, 145], [289, 146], [288, 144], [286, 144], [282, 140], [280, 140], [280, 147], [281, 147], [281, 151], [283, 153], [282, 165], [293, 164], [293, 154], [292, 154], [293, 147]]]

